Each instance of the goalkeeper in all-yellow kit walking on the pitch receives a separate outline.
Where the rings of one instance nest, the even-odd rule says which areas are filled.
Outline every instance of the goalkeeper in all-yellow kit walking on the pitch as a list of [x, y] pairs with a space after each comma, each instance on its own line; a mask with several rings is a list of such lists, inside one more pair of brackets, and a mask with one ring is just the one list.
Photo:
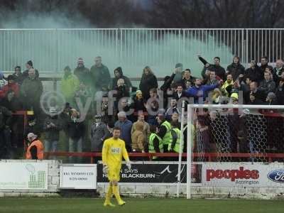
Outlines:
[[129, 154], [125, 148], [125, 143], [119, 138], [120, 133], [121, 129], [114, 127], [113, 137], [104, 141], [102, 148], [103, 173], [107, 174], [109, 178], [109, 188], [104, 202], [105, 207], [114, 207], [114, 204], [111, 204], [112, 193], [114, 193], [114, 197], [116, 197], [119, 206], [126, 203], [121, 199], [118, 188], [122, 156], [124, 160], [126, 160], [126, 165], [129, 170], [131, 169], [131, 163], [129, 161]]

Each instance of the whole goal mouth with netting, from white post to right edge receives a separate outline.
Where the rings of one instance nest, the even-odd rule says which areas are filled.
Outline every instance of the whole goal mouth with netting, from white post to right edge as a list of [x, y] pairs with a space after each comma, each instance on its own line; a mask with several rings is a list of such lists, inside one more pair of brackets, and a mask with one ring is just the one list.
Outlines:
[[[279, 162], [283, 156], [276, 153], [283, 153], [283, 109], [276, 105], [187, 105], [187, 126], [195, 127], [195, 132], [187, 128], [187, 144], [192, 145], [191, 149], [187, 146], [187, 168], [200, 164], [202, 187], [224, 190], [214, 193], [282, 186], [284, 167]], [[191, 170], [187, 174], [190, 198], [196, 190], [192, 190]]]

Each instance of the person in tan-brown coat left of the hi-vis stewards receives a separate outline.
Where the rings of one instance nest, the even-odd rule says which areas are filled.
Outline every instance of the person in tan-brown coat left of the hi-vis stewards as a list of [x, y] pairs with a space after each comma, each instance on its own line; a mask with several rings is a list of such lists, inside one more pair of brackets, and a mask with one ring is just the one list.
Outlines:
[[146, 138], [143, 133], [143, 122], [137, 121], [135, 130], [131, 133], [131, 141], [133, 153], [145, 153]]

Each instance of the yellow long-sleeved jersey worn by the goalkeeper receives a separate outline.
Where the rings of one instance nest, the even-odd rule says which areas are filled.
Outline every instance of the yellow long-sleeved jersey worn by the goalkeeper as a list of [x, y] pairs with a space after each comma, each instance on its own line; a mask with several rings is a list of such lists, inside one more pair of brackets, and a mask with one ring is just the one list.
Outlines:
[[121, 139], [109, 138], [104, 141], [102, 148], [102, 162], [107, 164], [110, 170], [121, 168], [122, 156], [129, 161], [129, 154], [126, 151], [125, 143]]

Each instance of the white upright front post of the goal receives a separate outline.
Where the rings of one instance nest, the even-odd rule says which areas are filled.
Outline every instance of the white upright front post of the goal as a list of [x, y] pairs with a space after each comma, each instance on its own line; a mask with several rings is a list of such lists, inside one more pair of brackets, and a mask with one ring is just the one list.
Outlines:
[[187, 199], [191, 198], [191, 141], [192, 141], [192, 106], [187, 104]]

